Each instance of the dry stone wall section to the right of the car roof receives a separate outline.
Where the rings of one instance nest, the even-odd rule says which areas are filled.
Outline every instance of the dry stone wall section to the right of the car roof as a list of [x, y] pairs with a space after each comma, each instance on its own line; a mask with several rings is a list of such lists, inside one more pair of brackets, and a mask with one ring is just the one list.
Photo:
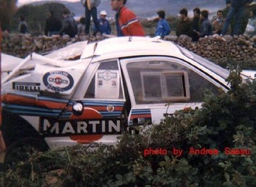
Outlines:
[[249, 38], [244, 35], [234, 37], [213, 35], [192, 42], [187, 35], [180, 37], [169, 35], [165, 40], [175, 42], [217, 64], [224, 64], [230, 58], [235, 62], [246, 64], [246, 67], [256, 67], [256, 36]]

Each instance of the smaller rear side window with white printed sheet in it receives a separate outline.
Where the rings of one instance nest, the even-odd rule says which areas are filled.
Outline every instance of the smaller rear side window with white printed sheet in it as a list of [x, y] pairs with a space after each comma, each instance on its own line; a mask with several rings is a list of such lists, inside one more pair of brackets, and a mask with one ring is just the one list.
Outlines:
[[84, 98], [123, 99], [121, 75], [117, 61], [100, 64]]

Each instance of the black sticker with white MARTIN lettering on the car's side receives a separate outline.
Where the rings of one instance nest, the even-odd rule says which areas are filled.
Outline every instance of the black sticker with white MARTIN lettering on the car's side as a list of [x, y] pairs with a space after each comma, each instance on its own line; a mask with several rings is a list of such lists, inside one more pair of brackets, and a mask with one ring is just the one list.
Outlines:
[[44, 136], [70, 136], [85, 134], [120, 134], [121, 120], [52, 120], [41, 118], [40, 132]]

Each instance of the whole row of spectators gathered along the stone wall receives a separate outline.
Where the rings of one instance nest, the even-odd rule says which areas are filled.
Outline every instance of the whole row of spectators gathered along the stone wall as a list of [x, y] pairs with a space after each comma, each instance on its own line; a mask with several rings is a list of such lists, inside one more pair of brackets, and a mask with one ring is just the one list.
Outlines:
[[[64, 17], [63, 23], [55, 17], [55, 13], [50, 10], [50, 16], [46, 20], [45, 35], [63, 35], [68, 34], [69, 37], [75, 35], [89, 35], [91, 26], [91, 17], [93, 18], [93, 35], [111, 34], [111, 26], [106, 19], [107, 12], [102, 10], [100, 18], [97, 18], [97, 7], [101, 0], [80, 0], [85, 8], [85, 17], [76, 22], [73, 15], [68, 10], [62, 12]], [[134, 12], [125, 6], [127, 0], [110, 0], [112, 10], [116, 11], [115, 24], [118, 37], [121, 36], [145, 36], [145, 31], [138, 17]], [[200, 37], [208, 35], [238, 35], [241, 33], [241, 21], [244, 7], [250, 4], [252, 0], [226, 0], [229, 8], [226, 19], [223, 17], [223, 10], [218, 10], [214, 21], [208, 19], [208, 10], [200, 10], [194, 8], [194, 17], [188, 18], [187, 9], [183, 8], [179, 11], [179, 22], [176, 28], [176, 35], [188, 35], [192, 40], [197, 41]], [[161, 38], [170, 34], [170, 25], [165, 20], [165, 12], [160, 10], [158, 14], [158, 24], [156, 26], [155, 36]], [[235, 26], [231, 32], [230, 21], [235, 17]], [[28, 24], [24, 17], [20, 17], [19, 31], [21, 33], [30, 33]], [[251, 19], [248, 21], [244, 35], [252, 36], [256, 33], [256, 10], [251, 11]]]

